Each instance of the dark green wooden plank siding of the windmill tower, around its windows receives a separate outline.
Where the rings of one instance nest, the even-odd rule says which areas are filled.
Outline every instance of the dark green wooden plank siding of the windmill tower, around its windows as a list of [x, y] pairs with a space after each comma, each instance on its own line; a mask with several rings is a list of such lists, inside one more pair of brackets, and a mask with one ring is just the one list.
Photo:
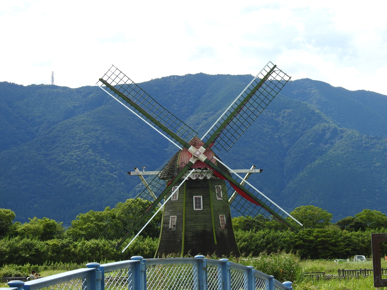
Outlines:
[[[222, 186], [221, 200], [216, 197], [216, 185]], [[202, 210], [194, 210], [194, 196], [202, 196]], [[227, 196], [221, 179], [186, 181], [179, 189], [178, 200], [166, 203], [157, 256], [170, 253], [239, 256]], [[169, 230], [171, 215], [176, 215], [176, 230]], [[219, 215], [225, 215], [226, 229], [221, 229]]]

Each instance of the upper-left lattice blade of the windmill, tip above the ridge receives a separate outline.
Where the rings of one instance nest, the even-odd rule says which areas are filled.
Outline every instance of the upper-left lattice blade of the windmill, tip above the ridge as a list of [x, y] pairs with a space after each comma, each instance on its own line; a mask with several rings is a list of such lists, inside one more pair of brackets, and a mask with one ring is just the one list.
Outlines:
[[178, 148], [197, 136], [193, 129], [156, 102], [114, 65], [99, 79], [97, 85]]

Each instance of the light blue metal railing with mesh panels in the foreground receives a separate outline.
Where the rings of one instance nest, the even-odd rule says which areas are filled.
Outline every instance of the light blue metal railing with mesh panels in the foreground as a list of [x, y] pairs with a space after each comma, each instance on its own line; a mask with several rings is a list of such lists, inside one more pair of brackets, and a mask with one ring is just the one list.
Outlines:
[[273, 276], [232, 263], [228, 259], [143, 259], [108, 264], [88, 263], [87, 268], [39, 278], [10, 281], [0, 290], [289, 290]]

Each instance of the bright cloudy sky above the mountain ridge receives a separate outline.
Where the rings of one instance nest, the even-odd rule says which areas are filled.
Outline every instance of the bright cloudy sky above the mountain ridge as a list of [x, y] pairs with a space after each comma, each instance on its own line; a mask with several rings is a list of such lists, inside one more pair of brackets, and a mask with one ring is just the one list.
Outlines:
[[[350, 4], [347, 4], [350, 3]], [[2, 1], [0, 82], [95, 85], [115, 65], [134, 82], [188, 73], [257, 75], [268, 61], [387, 95], [384, 2]]]

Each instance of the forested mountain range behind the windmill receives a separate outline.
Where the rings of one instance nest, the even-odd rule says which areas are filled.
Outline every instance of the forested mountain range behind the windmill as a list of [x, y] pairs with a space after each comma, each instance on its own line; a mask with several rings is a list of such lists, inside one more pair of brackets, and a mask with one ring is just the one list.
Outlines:
[[[201, 137], [251, 75], [169, 76], [140, 86]], [[228, 151], [235, 169], [291, 211], [315, 205], [333, 222], [387, 213], [387, 96], [310, 79], [285, 85]], [[98, 87], [0, 83], [0, 208], [69, 225], [135, 194], [133, 167], [160, 169], [177, 151]]]

